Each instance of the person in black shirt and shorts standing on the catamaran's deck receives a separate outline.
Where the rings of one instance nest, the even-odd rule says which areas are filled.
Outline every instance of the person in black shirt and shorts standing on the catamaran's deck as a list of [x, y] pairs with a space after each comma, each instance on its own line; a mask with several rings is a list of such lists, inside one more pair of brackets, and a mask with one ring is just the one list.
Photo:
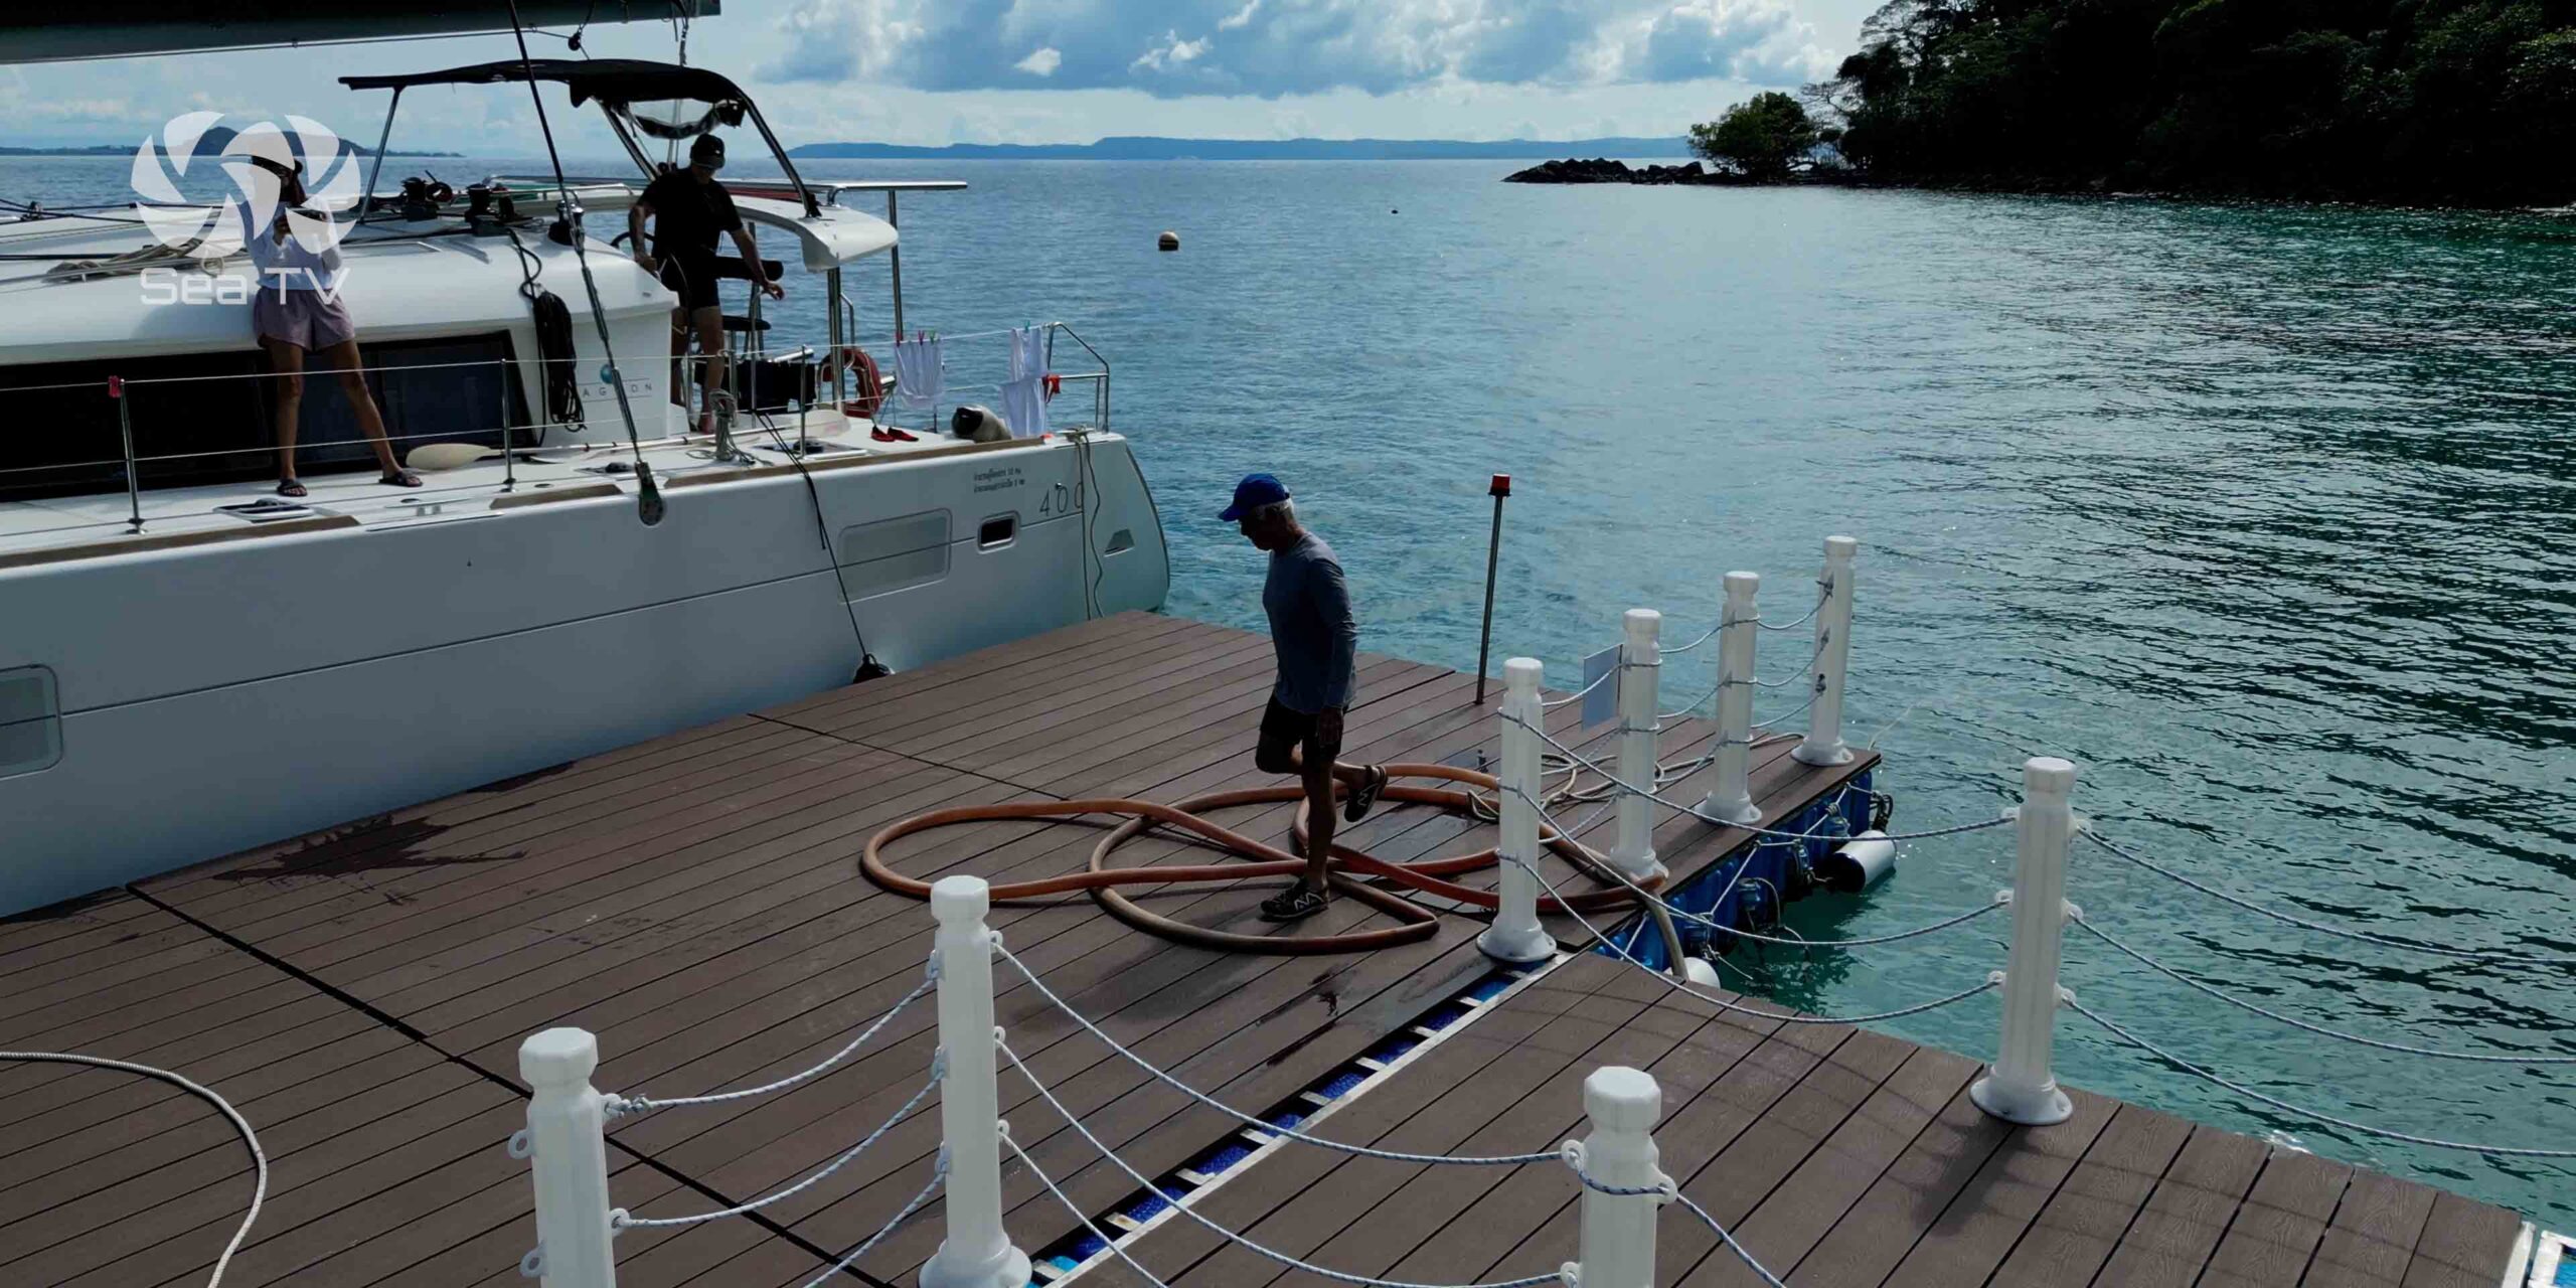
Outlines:
[[[742, 214], [734, 211], [734, 193], [716, 183], [716, 170], [721, 167], [724, 139], [701, 134], [698, 142], [688, 144], [688, 170], [670, 170], [652, 180], [644, 185], [644, 196], [626, 211], [626, 232], [634, 237], [636, 265], [647, 273], [659, 273], [662, 286], [670, 286], [680, 296], [680, 307], [670, 314], [670, 358], [675, 374], [680, 358], [688, 355], [690, 332], [698, 337], [698, 386], [706, 389], [698, 433], [716, 433], [716, 389], [726, 389], [729, 381], [729, 371], [724, 368], [724, 309], [716, 307], [716, 234], [734, 234], [734, 247], [742, 250], [742, 263], [752, 276], [755, 291], [768, 291], [770, 299], [786, 299], [788, 294], [786, 286], [768, 281], [768, 273], [760, 268], [760, 245], [742, 227]], [[644, 219], [654, 222], [652, 250], [644, 247]], [[675, 384], [672, 397], [677, 394]]]

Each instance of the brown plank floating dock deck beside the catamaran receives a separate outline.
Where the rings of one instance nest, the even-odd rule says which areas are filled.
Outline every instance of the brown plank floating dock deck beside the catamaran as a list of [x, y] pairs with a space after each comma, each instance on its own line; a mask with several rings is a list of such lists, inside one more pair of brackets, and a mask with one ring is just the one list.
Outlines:
[[[920, 672], [623, 747], [0, 922], [0, 1048], [178, 1069], [258, 1126], [276, 1177], [229, 1285], [513, 1285], [536, 1242], [518, 1041], [600, 1036], [598, 1084], [693, 1095], [804, 1069], [920, 979], [930, 914], [855, 871], [878, 827], [989, 801], [1151, 796], [1275, 783], [1252, 768], [1267, 639], [1118, 616]], [[1352, 760], [1492, 752], [1473, 677], [1363, 657]], [[1489, 696], [1492, 701], [1492, 696]], [[1577, 737], [1577, 711], [1551, 726]], [[1607, 755], [1607, 732], [1595, 732]], [[1667, 755], [1705, 744], [1685, 721]], [[1870, 768], [1754, 752], [1767, 819]], [[1682, 783], [1677, 791], [1703, 791]], [[1229, 827], [1283, 837], [1288, 811]], [[1345, 832], [1381, 858], [1492, 842], [1388, 809]], [[917, 837], [904, 871], [994, 881], [1082, 866], [1097, 829], [992, 822]], [[1687, 878], [1744, 840], [1667, 824]], [[1206, 860], [1146, 837], [1131, 863]], [[1484, 873], [1492, 881], [1492, 873]], [[1149, 907], [1257, 930], [1267, 886], [1188, 886]], [[1324, 927], [1368, 920], [1337, 902]], [[1481, 927], [1340, 958], [1218, 956], [1087, 899], [994, 909], [1010, 948], [1105, 1030], [1247, 1110], [1296, 1095], [1492, 976]], [[1558, 925], [1577, 948], [1579, 930]], [[1128, 1162], [1162, 1175], [1231, 1123], [1190, 1105], [997, 974], [1012, 1046]], [[912, 1007], [850, 1064], [791, 1092], [621, 1123], [611, 1188], [639, 1216], [739, 1203], [809, 1175], [920, 1090]], [[1412, 1151], [1546, 1149], [1582, 1121], [1600, 1064], [1651, 1069], [1664, 1170], [1767, 1265], [1814, 1285], [2396, 1285], [2494, 1288], [2519, 1218], [2434, 1190], [2099, 1097], [2071, 1123], [2002, 1128], [1965, 1103], [1973, 1061], [1842, 1025], [1777, 1025], [1574, 956], [1350, 1097], [1319, 1131]], [[1084, 1211], [1133, 1182], [1002, 1074], [1018, 1141]], [[896, 1126], [827, 1182], [755, 1218], [618, 1239], [618, 1283], [801, 1285], [927, 1175], [938, 1115]], [[247, 1162], [201, 1103], [111, 1072], [0, 1064], [0, 1283], [183, 1288], [247, 1203]], [[1553, 1267], [1574, 1247], [1561, 1167], [1417, 1170], [1311, 1149], [1229, 1175], [1200, 1211], [1355, 1273], [1466, 1283]], [[1079, 1226], [1005, 1167], [1007, 1224], [1038, 1252]], [[927, 1206], [842, 1283], [909, 1283], [940, 1239]], [[1667, 1213], [1664, 1283], [1752, 1283]], [[1131, 1252], [1175, 1285], [1270, 1283], [1198, 1226]], [[1535, 1267], [1535, 1270], [1533, 1270]], [[1288, 1275], [1303, 1280], [1306, 1275]], [[1087, 1280], [1141, 1283], [1123, 1265]]]

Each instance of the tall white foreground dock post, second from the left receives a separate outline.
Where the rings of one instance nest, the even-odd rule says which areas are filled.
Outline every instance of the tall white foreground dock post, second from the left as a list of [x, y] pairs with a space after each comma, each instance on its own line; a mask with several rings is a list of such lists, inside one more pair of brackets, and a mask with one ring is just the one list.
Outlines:
[[1023, 1288], [1028, 1252], [1002, 1231], [1002, 1108], [994, 1090], [992, 889], [981, 876], [930, 886], [940, 920], [940, 1139], [948, 1149], [948, 1239], [922, 1265], [922, 1288]]

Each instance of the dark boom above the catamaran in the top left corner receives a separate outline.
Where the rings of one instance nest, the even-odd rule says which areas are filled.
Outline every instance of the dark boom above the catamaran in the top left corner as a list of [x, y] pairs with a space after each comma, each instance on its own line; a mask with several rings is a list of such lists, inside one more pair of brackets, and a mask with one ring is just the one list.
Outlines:
[[[518, 0], [528, 26], [714, 18], [721, 0]], [[0, 5], [0, 64], [510, 31], [507, 0], [85, 0]]]

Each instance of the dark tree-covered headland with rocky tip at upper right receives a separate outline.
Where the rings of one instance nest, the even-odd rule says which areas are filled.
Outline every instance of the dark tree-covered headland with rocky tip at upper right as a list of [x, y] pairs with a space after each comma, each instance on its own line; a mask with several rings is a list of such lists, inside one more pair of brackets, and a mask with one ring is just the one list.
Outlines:
[[1690, 134], [1739, 180], [2558, 206], [2576, 5], [1893, 0]]

